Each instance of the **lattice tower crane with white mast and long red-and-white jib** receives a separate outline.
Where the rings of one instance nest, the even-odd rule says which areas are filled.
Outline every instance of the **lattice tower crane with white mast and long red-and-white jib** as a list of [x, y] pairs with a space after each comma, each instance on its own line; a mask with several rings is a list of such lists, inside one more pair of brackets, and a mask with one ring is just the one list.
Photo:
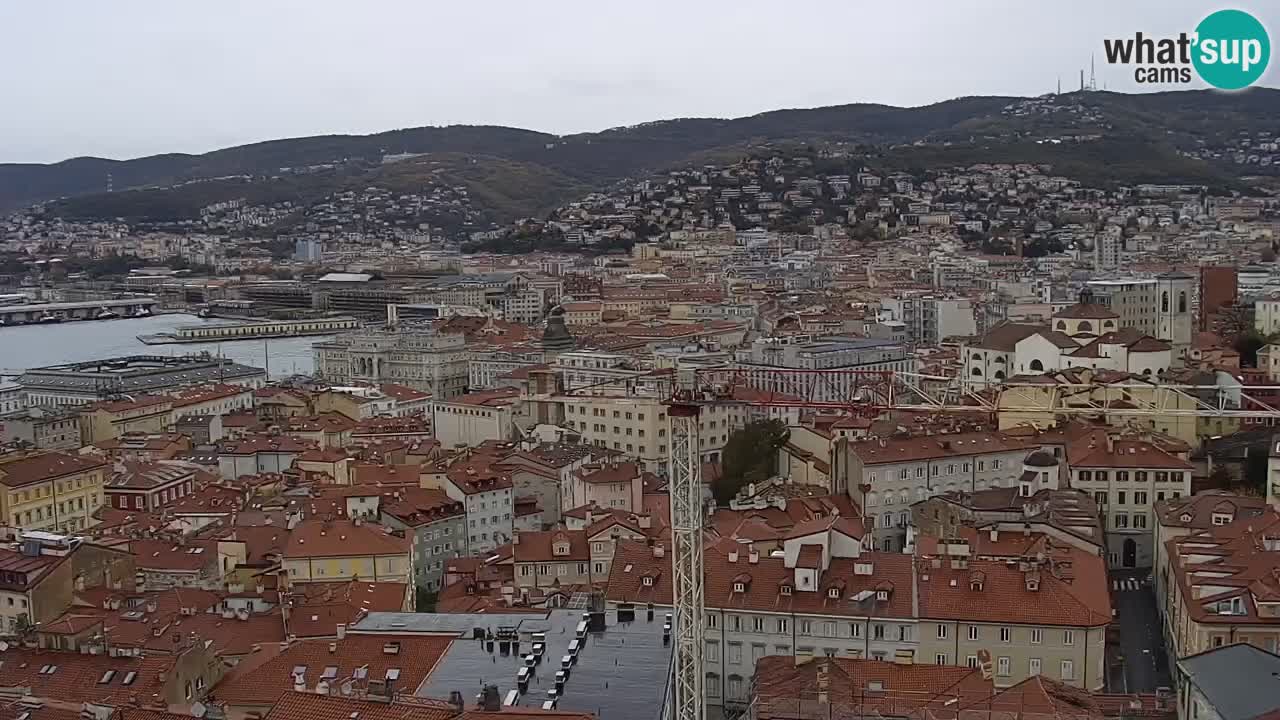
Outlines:
[[[675, 720], [705, 720], [703, 644], [703, 521], [699, 416], [705, 406], [748, 402], [762, 407], [977, 414], [996, 418], [1135, 416], [1280, 419], [1280, 387], [1161, 384], [1125, 377], [1115, 382], [1078, 374], [1015, 378], [998, 384], [896, 370], [795, 370], [730, 366], [696, 370], [692, 384], [667, 401], [671, 459], [672, 602], [675, 615], [672, 697]], [[762, 389], [763, 388], [763, 389]]]

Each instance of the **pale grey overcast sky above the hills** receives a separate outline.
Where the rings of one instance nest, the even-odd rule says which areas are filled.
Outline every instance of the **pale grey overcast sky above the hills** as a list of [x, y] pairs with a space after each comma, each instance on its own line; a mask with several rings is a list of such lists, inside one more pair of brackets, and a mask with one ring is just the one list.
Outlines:
[[[1275, 0], [1252, 10], [1272, 36]], [[6, 0], [0, 163], [136, 158], [324, 133], [571, 133], [844, 102], [1079, 85], [1143, 90], [1103, 37], [1192, 31], [1160, 0]], [[1268, 14], [1271, 17], [1268, 17]], [[1274, 40], [1276, 40], [1274, 37]], [[1272, 61], [1263, 85], [1276, 86]]]

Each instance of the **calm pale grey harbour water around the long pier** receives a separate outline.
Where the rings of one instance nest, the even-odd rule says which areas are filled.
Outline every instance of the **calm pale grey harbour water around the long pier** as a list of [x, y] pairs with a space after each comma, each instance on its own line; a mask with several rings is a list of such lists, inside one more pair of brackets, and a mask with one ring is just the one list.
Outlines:
[[[78, 363], [119, 355], [186, 355], [207, 350], [221, 352], [237, 363], [269, 366], [271, 377], [310, 374], [311, 345], [328, 340], [321, 336], [289, 337], [270, 341], [145, 345], [140, 334], [172, 332], [178, 325], [227, 320], [202, 320], [195, 315], [152, 315], [119, 320], [84, 320], [50, 325], [0, 328], [0, 370], [9, 373], [58, 363]], [[270, 363], [266, 356], [270, 354]]]

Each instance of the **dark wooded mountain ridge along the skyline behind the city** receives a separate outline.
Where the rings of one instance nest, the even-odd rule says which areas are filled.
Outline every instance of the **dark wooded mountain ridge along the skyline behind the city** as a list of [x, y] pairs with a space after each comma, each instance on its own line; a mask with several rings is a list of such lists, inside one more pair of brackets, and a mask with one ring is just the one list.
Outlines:
[[[101, 193], [106, 176], [116, 191], [169, 186], [225, 176], [270, 176], [342, 160], [369, 167], [384, 154], [476, 155], [532, 168], [568, 188], [593, 187], [696, 159], [700, 154], [765, 141], [908, 143], [965, 141], [978, 136], [1021, 136], [1052, 129], [1060, 118], [1019, 118], [1004, 113], [1021, 97], [959, 97], [919, 108], [851, 104], [773, 110], [716, 119], [681, 118], [594, 133], [554, 136], [497, 127], [449, 126], [396, 129], [366, 136], [271, 140], [201, 155], [168, 154], [133, 160], [74, 158], [54, 164], [0, 164], [0, 210], [33, 202]], [[1064, 101], [1094, 109], [1108, 132], [1135, 141], [1194, 143], [1197, 138], [1270, 127], [1280, 111], [1280, 91], [1178, 91], [1149, 95], [1070, 94]], [[1079, 123], [1076, 123], [1079, 124]], [[1066, 123], [1068, 127], [1074, 127]], [[1080, 129], [1075, 127], [1075, 129]], [[1088, 129], [1088, 127], [1083, 128]], [[1147, 138], [1147, 140], [1144, 140]], [[532, 205], [530, 205], [532, 206]], [[521, 208], [521, 205], [513, 205]]]

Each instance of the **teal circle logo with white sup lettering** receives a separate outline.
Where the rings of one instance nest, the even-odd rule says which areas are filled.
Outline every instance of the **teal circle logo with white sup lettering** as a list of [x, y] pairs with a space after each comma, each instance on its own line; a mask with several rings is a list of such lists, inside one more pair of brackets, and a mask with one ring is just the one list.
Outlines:
[[1201, 78], [1219, 90], [1248, 87], [1267, 69], [1267, 29], [1244, 10], [1208, 15], [1196, 26], [1196, 36], [1192, 63]]

